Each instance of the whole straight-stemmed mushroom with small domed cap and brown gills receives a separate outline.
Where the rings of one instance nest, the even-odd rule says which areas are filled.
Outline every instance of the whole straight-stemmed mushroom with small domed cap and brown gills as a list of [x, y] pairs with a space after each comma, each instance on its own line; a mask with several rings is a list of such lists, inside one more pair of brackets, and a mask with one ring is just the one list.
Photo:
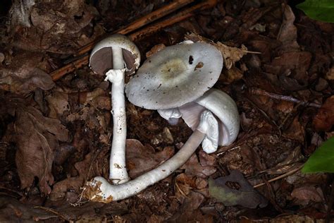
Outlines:
[[101, 40], [89, 58], [89, 66], [95, 73], [106, 75], [112, 83], [111, 113], [113, 115], [113, 140], [111, 144], [109, 178], [113, 183], [129, 180], [125, 167], [126, 115], [124, 79], [140, 65], [140, 52], [124, 35], [111, 35]]

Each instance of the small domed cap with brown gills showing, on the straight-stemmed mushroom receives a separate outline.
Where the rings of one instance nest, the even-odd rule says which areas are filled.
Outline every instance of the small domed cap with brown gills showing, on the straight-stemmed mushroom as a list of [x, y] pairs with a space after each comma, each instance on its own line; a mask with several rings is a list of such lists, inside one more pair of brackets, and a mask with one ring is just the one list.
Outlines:
[[140, 51], [125, 35], [111, 35], [98, 42], [89, 57], [89, 66], [95, 73], [104, 75], [113, 68], [112, 47], [120, 47], [126, 64], [125, 73], [130, 75], [140, 66]]

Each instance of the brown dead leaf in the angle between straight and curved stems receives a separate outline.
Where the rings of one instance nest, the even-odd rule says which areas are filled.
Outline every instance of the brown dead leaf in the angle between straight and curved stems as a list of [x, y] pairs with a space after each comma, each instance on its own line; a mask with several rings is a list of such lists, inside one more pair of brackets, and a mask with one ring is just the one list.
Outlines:
[[161, 152], [155, 152], [153, 147], [144, 146], [138, 140], [126, 140], [126, 166], [132, 179], [154, 169], [173, 155], [173, 147], [165, 147]]

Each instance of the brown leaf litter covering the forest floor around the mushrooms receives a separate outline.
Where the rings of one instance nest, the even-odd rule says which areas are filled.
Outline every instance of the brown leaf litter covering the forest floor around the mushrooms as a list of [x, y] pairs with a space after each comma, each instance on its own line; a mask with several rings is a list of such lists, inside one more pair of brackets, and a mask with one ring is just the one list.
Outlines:
[[[185, 39], [218, 47], [225, 66], [214, 88], [237, 102], [242, 130], [232, 145], [214, 155], [198, 150], [139, 195], [100, 204], [80, 200], [80, 188], [109, 175], [110, 86], [87, 67], [56, 83], [48, 73], [163, 1], [27, 1], [18, 11], [22, 4], [13, 1], [0, 12], [9, 22], [0, 22], [1, 219], [315, 222], [333, 216], [331, 176], [299, 171], [334, 134], [333, 24], [311, 20], [283, 1], [218, 1], [137, 40], [147, 57]], [[183, 121], [170, 126], [156, 111], [126, 107], [134, 178], [171, 157], [192, 131]]]

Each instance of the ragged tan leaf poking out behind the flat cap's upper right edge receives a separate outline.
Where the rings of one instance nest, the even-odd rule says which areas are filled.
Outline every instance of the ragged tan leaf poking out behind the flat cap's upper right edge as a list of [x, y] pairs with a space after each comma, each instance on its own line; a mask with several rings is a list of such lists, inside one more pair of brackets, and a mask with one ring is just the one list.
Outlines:
[[185, 40], [192, 40], [193, 42], [207, 42], [209, 44], [213, 44], [215, 47], [217, 47], [217, 49], [219, 49], [221, 54], [223, 54], [224, 66], [227, 69], [230, 69], [232, 66], [234, 66], [235, 62], [240, 61], [242, 56], [245, 56], [248, 53], [247, 47], [245, 47], [244, 45], [241, 45], [240, 49], [237, 47], [228, 47], [221, 42], [215, 43], [209, 39], [197, 35], [194, 32], [185, 35]]

